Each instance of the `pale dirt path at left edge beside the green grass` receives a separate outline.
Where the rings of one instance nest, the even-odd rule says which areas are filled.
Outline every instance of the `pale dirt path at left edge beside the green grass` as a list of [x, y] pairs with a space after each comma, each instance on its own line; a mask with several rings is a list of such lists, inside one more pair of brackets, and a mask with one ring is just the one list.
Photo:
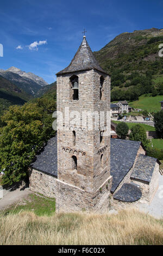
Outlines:
[[26, 198], [30, 193], [32, 192], [30, 192], [29, 188], [25, 188], [24, 190], [17, 188], [14, 191], [9, 191], [3, 198], [0, 199], [0, 210], [3, 210], [9, 205], [16, 203], [23, 198]]

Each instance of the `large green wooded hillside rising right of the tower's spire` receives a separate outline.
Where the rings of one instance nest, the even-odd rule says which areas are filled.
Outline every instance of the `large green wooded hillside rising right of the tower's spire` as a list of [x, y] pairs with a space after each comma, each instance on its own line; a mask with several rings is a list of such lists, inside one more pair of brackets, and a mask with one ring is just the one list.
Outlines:
[[158, 47], [162, 42], [163, 29], [151, 28], [122, 33], [93, 53], [111, 75], [111, 101], [133, 101], [142, 94], [163, 91], [163, 58]]

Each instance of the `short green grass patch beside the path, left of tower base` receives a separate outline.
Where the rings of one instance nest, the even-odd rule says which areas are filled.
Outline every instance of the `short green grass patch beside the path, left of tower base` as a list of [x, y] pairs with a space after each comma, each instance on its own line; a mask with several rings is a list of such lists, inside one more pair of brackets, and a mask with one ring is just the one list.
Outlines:
[[21, 211], [33, 211], [37, 216], [50, 216], [55, 212], [55, 199], [45, 197], [40, 193], [29, 194], [28, 198], [23, 199], [22, 202], [13, 204], [4, 210], [4, 215], [18, 214]]

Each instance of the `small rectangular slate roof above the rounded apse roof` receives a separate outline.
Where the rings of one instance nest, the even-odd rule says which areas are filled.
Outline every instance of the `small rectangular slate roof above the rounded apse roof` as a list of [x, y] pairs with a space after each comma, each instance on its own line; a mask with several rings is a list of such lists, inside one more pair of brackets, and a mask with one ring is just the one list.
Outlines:
[[140, 154], [137, 157], [135, 167], [130, 177], [134, 179], [151, 182], [155, 163], [157, 161], [158, 160], [155, 159], [154, 157]]

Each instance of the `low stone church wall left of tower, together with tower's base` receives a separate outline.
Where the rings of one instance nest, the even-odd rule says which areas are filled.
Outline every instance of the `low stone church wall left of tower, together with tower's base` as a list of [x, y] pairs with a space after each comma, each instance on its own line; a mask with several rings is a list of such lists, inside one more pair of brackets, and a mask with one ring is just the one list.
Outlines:
[[30, 190], [55, 198], [57, 212], [105, 212], [109, 209], [111, 176], [92, 194], [35, 169], [30, 169], [29, 174]]

